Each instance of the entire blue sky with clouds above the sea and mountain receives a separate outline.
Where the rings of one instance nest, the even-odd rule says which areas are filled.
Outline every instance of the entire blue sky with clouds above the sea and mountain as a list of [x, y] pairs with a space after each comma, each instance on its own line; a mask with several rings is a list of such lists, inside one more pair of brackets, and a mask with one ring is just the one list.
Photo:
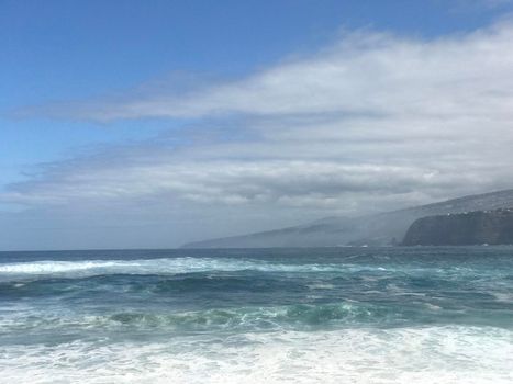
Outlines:
[[0, 0], [0, 250], [513, 188], [513, 1]]

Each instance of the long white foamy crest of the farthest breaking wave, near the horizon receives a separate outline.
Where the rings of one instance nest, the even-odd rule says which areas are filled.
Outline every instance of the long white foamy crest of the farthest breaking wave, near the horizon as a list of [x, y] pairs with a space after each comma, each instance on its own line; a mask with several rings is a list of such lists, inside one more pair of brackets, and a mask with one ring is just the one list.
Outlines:
[[[283, 273], [306, 273], [306, 272], [369, 272], [371, 276], [364, 279], [375, 281], [376, 274], [409, 274], [409, 275], [444, 275], [453, 279], [475, 275], [478, 272], [471, 269], [438, 269], [438, 268], [416, 268], [397, 267], [383, 268], [380, 266], [365, 266], [355, 263], [279, 263], [269, 260], [237, 259], [237, 258], [160, 258], [160, 259], [138, 259], [138, 260], [82, 260], [82, 261], [31, 261], [0, 263], [0, 281], [11, 281], [18, 279], [34, 279], [45, 276], [58, 278], [82, 278], [101, 274], [177, 274], [209, 271], [243, 271], [253, 270], [261, 272], [283, 272]], [[488, 272], [480, 271], [483, 278]], [[493, 276], [498, 278], [495, 271]], [[489, 278], [489, 276], [487, 276]]]

